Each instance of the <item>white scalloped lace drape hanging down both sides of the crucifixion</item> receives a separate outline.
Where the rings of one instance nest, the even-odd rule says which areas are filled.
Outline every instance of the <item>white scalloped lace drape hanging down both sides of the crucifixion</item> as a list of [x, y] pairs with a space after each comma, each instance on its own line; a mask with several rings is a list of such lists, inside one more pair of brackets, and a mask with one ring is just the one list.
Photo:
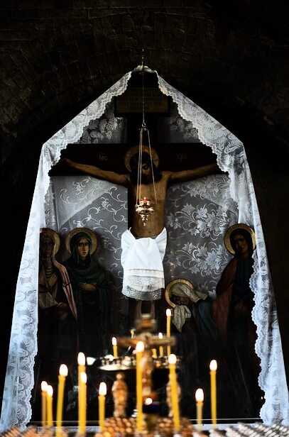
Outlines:
[[[37, 353], [39, 228], [46, 226], [44, 199], [49, 186], [48, 171], [58, 162], [61, 150], [68, 143], [79, 141], [84, 133], [84, 127], [104, 113], [105, 106], [112, 97], [125, 91], [130, 76], [131, 72], [125, 74], [119, 82], [87, 106], [43, 145], [16, 287], [1, 411], [1, 431], [15, 424], [24, 427], [31, 418], [33, 364]], [[258, 332], [256, 353], [261, 358], [259, 384], [266, 397], [266, 402], [261, 409], [261, 418], [268, 424], [275, 421], [288, 424], [288, 389], [276, 303], [244, 146], [224, 126], [159, 76], [158, 83], [161, 92], [171, 96], [178, 104], [178, 111], [182, 118], [190, 121], [197, 129], [202, 143], [212, 148], [217, 155], [219, 167], [229, 173], [231, 197], [236, 201], [239, 210], [238, 221], [248, 223], [256, 231], [257, 249], [254, 253], [255, 264], [251, 288], [255, 294], [256, 303], [253, 308], [253, 320]], [[180, 214], [183, 214], [180, 220], [189, 214], [193, 222], [196, 214], [194, 216], [191, 213], [192, 211], [180, 211]], [[184, 251], [186, 250], [190, 255], [195, 248], [187, 246]]]

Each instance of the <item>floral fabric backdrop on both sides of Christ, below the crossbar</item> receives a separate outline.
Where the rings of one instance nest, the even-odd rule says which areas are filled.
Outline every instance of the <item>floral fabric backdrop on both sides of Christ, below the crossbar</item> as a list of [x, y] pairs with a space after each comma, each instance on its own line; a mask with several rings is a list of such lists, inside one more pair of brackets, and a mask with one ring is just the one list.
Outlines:
[[[121, 233], [127, 226], [126, 189], [92, 177], [53, 177], [46, 196], [46, 226], [62, 236], [58, 259], [69, 254], [65, 236], [73, 228], [92, 229], [98, 238], [94, 256], [113, 277], [111, 311], [127, 314], [121, 294]], [[168, 245], [164, 259], [165, 282], [178, 277], [197, 289], [214, 293], [230, 255], [224, 248], [224, 233], [237, 221], [236, 204], [229, 194], [227, 175], [212, 175], [168, 189], [165, 224]], [[112, 314], [112, 320], [114, 314]], [[114, 326], [119, 331], [118, 326]]]

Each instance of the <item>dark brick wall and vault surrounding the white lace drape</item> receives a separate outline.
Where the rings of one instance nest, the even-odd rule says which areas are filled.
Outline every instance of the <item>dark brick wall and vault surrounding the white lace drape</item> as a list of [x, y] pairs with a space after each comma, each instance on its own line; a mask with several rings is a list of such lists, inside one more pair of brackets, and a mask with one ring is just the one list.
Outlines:
[[133, 69], [143, 46], [148, 65], [244, 143], [288, 363], [288, 11], [278, 4], [190, 3], [0, 6], [1, 223], [4, 245], [13, 248], [2, 257], [9, 272], [1, 316], [2, 380], [40, 147]]

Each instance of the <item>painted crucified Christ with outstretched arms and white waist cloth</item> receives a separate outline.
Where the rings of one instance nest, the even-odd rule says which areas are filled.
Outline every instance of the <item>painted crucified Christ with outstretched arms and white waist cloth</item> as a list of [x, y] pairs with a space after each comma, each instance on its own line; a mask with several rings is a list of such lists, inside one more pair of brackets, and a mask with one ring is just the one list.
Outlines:
[[[135, 148], [130, 150], [135, 150]], [[156, 155], [156, 152], [154, 153]], [[142, 153], [141, 159], [141, 197], [150, 199], [154, 206], [154, 212], [149, 216], [146, 226], [143, 226], [141, 217], [135, 211], [138, 188], [138, 153], [131, 154], [129, 165], [126, 165], [128, 168], [126, 175], [102, 170], [93, 165], [73, 162], [67, 158], [62, 160], [85, 175], [104, 179], [128, 189], [129, 230], [121, 236], [121, 265], [124, 267], [122, 293], [126, 297], [136, 300], [134, 319], [141, 319], [143, 301], [149, 302], [151, 316], [154, 318], [155, 301], [160, 299], [161, 289], [165, 286], [163, 257], [166, 247], [165, 193], [168, 187], [178, 182], [212, 175], [219, 170], [217, 164], [209, 164], [192, 170], [158, 172], [156, 157], [152, 156], [152, 165], [151, 156], [146, 151]]]

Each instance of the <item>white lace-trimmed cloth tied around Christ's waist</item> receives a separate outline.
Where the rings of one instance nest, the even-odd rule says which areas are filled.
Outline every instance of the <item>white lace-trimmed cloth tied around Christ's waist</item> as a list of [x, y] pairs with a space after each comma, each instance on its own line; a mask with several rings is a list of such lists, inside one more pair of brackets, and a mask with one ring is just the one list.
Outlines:
[[163, 257], [166, 245], [165, 228], [155, 238], [135, 238], [129, 229], [122, 234], [122, 294], [138, 300], [160, 299], [161, 289], [165, 287]]

